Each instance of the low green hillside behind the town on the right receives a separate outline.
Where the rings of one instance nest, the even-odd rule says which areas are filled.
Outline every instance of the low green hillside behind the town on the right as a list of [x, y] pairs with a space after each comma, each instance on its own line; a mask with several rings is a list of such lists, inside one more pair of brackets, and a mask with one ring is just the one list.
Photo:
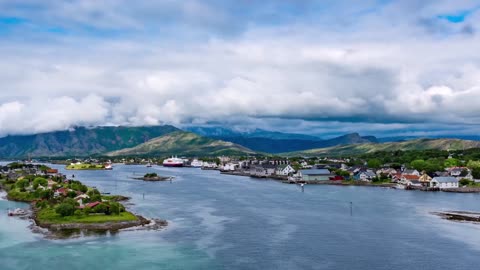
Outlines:
[[306, 151], [290, 152], [286, 156], [348, 156], [377, 151], [396, 150], [462, 150], [469, 148], [480, 148], [480, 141], [469, 141], [460, 139], [416, 139], [404, 142], [390, 143], [366, 143], [353, 145], [340, 145], [327, 148], [310, 149]]

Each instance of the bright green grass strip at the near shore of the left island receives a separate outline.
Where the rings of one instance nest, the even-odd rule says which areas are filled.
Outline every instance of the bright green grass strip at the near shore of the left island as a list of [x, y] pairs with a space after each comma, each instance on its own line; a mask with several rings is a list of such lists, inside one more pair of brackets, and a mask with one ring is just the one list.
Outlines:
[[121, 222], [121, 221], [135, 221], [138, 218], [130, 212], [121, 212], [119, 215], [97, 215], [90, 214], [88, 216], [67, 216], [62, 217], [55, 212], [53, 208], [41, 209], [37, 213], [37, 218], [41, 222], [54, 224], [68, 224], [68, 223], [105, 223], [105, 222]]

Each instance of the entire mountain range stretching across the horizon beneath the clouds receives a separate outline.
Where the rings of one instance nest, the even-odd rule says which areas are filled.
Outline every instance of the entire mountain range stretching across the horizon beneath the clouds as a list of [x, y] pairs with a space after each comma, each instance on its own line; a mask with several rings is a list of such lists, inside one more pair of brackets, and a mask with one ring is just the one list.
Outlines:
[[331, 139], [261, 129], [234, 131], [222, 127], [174, 126], [77, 127], [34, 135], [0, 138], [0, 158], [108, 156], [218, 156], [278, 154], [285, 156], [355, 155], [375, 151], [480, 147], [479, 141], [411, 139], [383, 142], [358, 133]]

